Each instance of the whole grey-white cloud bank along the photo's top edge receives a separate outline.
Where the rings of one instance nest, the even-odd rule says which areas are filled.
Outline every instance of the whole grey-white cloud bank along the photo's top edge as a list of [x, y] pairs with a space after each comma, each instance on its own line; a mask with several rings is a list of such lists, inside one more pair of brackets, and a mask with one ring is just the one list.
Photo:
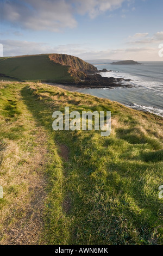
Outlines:
[[74, 28], [74, 14], [88, 14], [92, 19], [107, 10], [121, 7], [131, 0], [5, 0], [2, 20], [35, 31], [59, 32], [62, 28]]

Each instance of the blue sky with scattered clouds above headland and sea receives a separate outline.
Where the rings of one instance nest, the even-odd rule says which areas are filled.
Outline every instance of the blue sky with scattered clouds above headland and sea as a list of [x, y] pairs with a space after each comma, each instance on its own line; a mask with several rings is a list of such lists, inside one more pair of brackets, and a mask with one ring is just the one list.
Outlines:
[[162, 9], [162, 0], [0, 0], [3, 56], [163, 61]]

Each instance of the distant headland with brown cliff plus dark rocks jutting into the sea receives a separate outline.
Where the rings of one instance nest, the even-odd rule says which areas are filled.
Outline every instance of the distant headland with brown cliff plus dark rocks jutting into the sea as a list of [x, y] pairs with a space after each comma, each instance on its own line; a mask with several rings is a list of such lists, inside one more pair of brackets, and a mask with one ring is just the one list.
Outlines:
[[[97, 68], [67, 54], [39, 54], [0, 58], [1, 80], [76, 84], [83, 88], [130, 86], [123, 78], [102, 77]], [[98, 74], [97, 74], [98, 73]]]

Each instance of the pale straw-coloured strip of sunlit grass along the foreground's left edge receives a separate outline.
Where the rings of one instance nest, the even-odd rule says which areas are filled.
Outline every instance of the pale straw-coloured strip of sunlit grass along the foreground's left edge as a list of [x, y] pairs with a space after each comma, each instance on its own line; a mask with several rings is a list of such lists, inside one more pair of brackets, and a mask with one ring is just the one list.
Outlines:
[[1, 88], [2, 245], [37, 244], [43, 228], [47, 138], [23, 103], [21, 87]]

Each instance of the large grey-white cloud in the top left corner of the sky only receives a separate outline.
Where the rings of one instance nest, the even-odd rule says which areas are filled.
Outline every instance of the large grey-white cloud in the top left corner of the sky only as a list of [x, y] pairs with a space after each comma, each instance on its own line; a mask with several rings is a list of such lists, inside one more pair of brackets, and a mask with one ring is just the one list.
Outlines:
[[76, 27], [72, 7], [65, 0], [5, 1], [3, 20], [32, 30], [58, 32], [61, 28]]

